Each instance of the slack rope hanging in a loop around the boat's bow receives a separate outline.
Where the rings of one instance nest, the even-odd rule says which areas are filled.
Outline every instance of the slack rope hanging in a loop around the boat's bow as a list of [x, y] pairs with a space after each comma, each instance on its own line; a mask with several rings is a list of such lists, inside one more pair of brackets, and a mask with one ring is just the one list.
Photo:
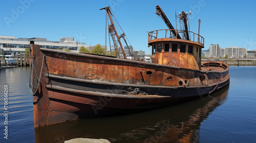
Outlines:
[[44, 56], [42, 57], [42, 64], [41, 64], [41, 70], [40, 70], [39, 79], [38, 79], [38, 76], [37, 76], [37, 74], [36, 74], [36, 78], [37, 78], [37, 80], [38, 80], [37, 87], [36, 87], [35, 92], [33, 92], [33, 84], [31, 84], [32, 68], [34, 69], [34, 72], [36, 73], [35, 67], [34, 67], [34, 65], [33, 65], [34, 56], [35, 56], [35, 54], [33, 55], [33, 57], [32, 57], [31, 60], [30, 60], [30, 72], [29, 72], [29, 74], [30, 74], [30, 76], [29, 76], [29, 87], [30, 87], [31, 92], [32, 92], [33, 95], [35, 94], [35, 92], [36, 92], [37, 89], [38, 89], [38, 86], [39, 86], [39, 83], [40, 83], [40, 80], [41, 80], [41, 75], [42, 75], [42, 66], [44, 65], [44, 60], [45, 60], [45, 55], [44, 55]]

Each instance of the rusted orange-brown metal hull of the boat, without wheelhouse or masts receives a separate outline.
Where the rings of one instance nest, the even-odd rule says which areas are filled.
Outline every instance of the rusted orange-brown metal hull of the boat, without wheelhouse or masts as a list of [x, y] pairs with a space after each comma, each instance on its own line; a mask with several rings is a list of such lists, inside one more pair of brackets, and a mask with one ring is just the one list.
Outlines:
[[229, 83], [223, 62], [202, 63], [204, 70], [192, 70], [36, 44], [30, 44], [30, 57], [35, 127], [170, 106]]

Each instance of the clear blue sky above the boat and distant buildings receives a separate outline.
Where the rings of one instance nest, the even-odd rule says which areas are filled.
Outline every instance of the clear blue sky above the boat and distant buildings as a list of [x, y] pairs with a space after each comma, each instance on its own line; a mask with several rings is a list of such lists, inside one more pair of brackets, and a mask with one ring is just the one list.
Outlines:
[[[15, 38], [41, 37], [59, 41], [62, 37], [74, 37], [87, 45], [105, 44], [105, 11], [111, 6], [126, 37], [135, 50], [149, 54], [147, 32], [167, 29], [158, 17], [155, 7], [160, 5], [170, 22], [175, 25], [175, 9], [191, 11], [190, 31], [205, 38], [205, 50], [219, 44], [256, 50], [256, 1], [0, 1], [0, 35]], [[109, 45], [109, 44], [107, 44]]]

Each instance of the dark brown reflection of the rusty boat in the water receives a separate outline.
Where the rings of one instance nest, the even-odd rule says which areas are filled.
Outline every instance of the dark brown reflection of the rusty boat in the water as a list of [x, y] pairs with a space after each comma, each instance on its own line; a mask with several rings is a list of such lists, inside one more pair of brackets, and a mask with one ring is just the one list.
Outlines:
[[105, 138], [111, 142], [199, 142], [200, 125], [225, 103], [229, 85], [210, 96], [163, 109], [88, 118], [35, 128], [35, 142]]

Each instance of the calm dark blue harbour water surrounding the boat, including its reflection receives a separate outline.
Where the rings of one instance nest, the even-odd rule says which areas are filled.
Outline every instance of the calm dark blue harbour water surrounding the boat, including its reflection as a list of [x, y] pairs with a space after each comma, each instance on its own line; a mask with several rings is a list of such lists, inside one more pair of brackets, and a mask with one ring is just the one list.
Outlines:
[[[230, 85], [202, 99], [143, 113], [92, 118], [34, 129], [29, 68], [0, 70], [0, 142], [255, 142], [256, 67], [230, 67]], [[4, 85], [8, 85], [8, 139]]]

